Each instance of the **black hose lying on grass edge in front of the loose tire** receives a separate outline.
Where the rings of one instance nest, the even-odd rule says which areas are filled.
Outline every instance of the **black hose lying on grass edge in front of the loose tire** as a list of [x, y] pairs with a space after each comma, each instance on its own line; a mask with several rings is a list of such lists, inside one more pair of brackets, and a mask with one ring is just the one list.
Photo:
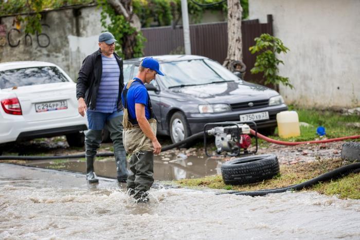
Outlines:
[[258, 191], [248, 191], [248, 192], [242, 192], [242, 191], [232, 191], [232, 192], [225, 192], [225, 193], [218, 193], [217, 195], [220, 194], [235, 194], [235, 195], [246, 195], [246, 196], [265, 196], [266, 194], [269, 193], [283, 193], [286, 191], [298, 191], [301, 190], [303, 188], [308, 188], [318, 182], [321, 181], [327, 181], [330, 179], [334, 179], [334, 178], [339, 178], [339, 177], [344, 177], [350, 173], [353, 172], [357, 172], [360, 170], [360, 162], [359, 163], [352, 163], [343, 167], [340, 167], [338, 169], [335, 169], [333, 171], [321, 174], [318, 177], [315, 177], [313, 179], [310, 179], [308, 181], [304, 181], [302, 183], [299, 184], [295, 184], [289, 187], [284, 187], [284, 188], [278, 188], [278, 189], [263, 189], [263, 190], [258, 190]]

